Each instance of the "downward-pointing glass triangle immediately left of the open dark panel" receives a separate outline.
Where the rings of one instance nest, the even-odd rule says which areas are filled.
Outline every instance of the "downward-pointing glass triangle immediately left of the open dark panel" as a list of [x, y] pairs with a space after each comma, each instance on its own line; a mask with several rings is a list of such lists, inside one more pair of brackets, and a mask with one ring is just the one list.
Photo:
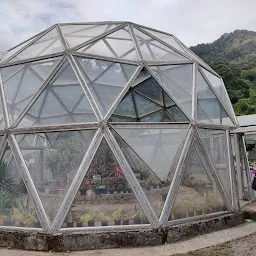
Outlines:
[[103, 116], [137, 69], [135, 65], [116, 62], [76, 58], [83, 71], [84, 79]]

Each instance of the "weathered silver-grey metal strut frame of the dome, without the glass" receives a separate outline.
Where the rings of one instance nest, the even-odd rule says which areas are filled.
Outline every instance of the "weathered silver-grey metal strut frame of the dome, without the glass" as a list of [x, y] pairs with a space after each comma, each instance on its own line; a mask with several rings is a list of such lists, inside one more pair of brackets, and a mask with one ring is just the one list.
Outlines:
[[[69, 43], [66, 39], [65, 33], [63, 33], [63, 28], [65, 26], [101, 26], [106, 25], [110, 27], [107, 31], [96, 35], [95, 37], [81, 42], [73, 47], [69, 47]], [[115, 25], [115, 27], [111, 28], [111, 25]], [[90, 53], [83, 53], [78, 52], [77, 50], [82, 49], [88, 45], [93, 45], [100, 40], [104, 39], [105, 37], [120, 31], [122, 29], [128, 29], [126, 32], [131, 35], [131, 41], [134, 45], [135, 53], [137, 54], [137, 60], [130, 60], [121, 58], [120, 56], [116, 55], [116, 57], [109, 57], [109, 56], [102, 56], [97, 54], [90, 54]], [[63, 50], [57, 53], [51, 54], [42, 54], [39, 56], [32, 56], [29, 58], [22, 57], [19, 59], [19, 56], [22, 56], [25, 50], [29, 50], [29, 47], [33, 46], [38, 40], [44, 38], [47, 33], [56, 30], [58, 39], [60, 40]], [[139, 31], [143, 33], [145, 36], [150, 37], [152, 40], [155, 40], [159, 44], [165, 46], [166, 48], [170, 49], [171, 52], [174, 52], [174, 55], [177, 54], [186, 58], [186, 60], [148, 60], [145, 59], [145, 55], [143, 55], [141, 51], [141, 45], [138, 42], [138, 35], [134, 31]], [[150, 33], [149, 31], [152, 31]], [[153, 34], [153, 32], [168, 36], [174, 40], [177, 44], [175, 48], [174, 45], [167, 43], [163, 38], [159, 38]], [[115, 54], [114, 54], [115, 55]], [[3, 70], [5, 68], [16, 67], [17, 65], [25, 65], [36, 61], [44, 61], [50, 60], [53, 58], [59, 58], [57, 64], [52, 69], [50, 74], [44, 80], [44, 82], [39, 86], [39, 88], [33, 93], [31, 98], [29, 99], [26, 106], [22, 109], [22, 111], [10, 120], [10, 113], [8, 109], [8, 102], [6, 100], [6, 91], [5, 91], [5, 81], [3, 79]], [[83, 74], [83, 70], [81, 70], [81, 66], [79, 66], [77, 58], [86, 58], [86, 59], [94, 59], [94, 60], [101, 60], [107, 61], [114, 64], [127, 64], [127, 65], [134, 65], [136, 66], [135, 71], [129, 77], [128, 82], [125, 86], [123, 86], [121, 92], [119, 93], [118, 97], [113, 100], [111, 106], [107, 110], [107, 113], [103, 113], [99, 107], [98, 102], [95, 100], [95, 96], [92, 94], [90, 86], [88, 85], [88, 81], [85, 79]], [[184, 109], [184, 106], [177, 100], [177, 97], [173, 95], [173, 92], [168, 88], [168, 86], [159, 78], [159, 76], [152, 71], [152, 67], [166, 67], [169, 65], [191, 65], [192, 67], [192, 83], [191, 83], [191, 113], [187, 113], [188, 111]], [[91, 122], [69, 122], [69, 123], [57, 123], [57, 124], [36, 124], [35, 126], [31, 127], [22, 127], [19, 126], [21, 121], [25, 118], [26, 114], [30, 111], [31, 107], [35, 104], [38, 100], [40, 95], [43, 93], [44, 89], [51, 83], [54, 77], [56, 77], [61, 69], [65, 67], [65, 65], [69, 65], [83, 89], [84, 95], [90, 103], [90, 106], [95, 114], [97, 120]], [[159, 86], [164, 90], [167, 95], [171, 98], [171, 100], [175, 103], [175, 105], [185, 114], [188, 121], [174, 121], [174, 122], [110, 122], [109, 119], [111, 115], [116, 110], [122, 99], [125, 97], [129, 88], [132, 86], [142, 69], [145, 69], [148, 74], [154, 78], [154, 80], [159, 84]], [[220, 94], [216, 91], [216, 88], [209, 80], [209, 78], [205, 74], [205, 70], [218, 78], [221, 81], [221, 86], [223, 92], [225, 93], [224, 99], [220, 97]], [[0, 136], [3, 138], [1, 147], [0, 147], [0, 155], [3, 157], [5, 150], [7, 147], [10, 147], [10, 150], [16, 160], [16, 163], [20, 169], [21, 176], [23, 181], [26, 185], [27, 191], [34, 203], [38, 219], [41, 223], [41, 228], [28, 228], [28, 227], [17, 227], [17, 226], [1, 226], [0, 229], [9, 229], [9, 230], [39, 230], [45, 232], [73, 232], [73, 231], [80, 231], [80, 230], [96, 230], [96, 231], [105, 231], [105, 230], [130, 230], [130, 229], [138, 229], [138, 228], [158, 228], [167, 225], [174, 225], [179, 223], [184, 223], [188, 221], [198, 220], [202, 218], [209, 218], [213, 216], [222, 215], [228, 212], [235, 212], [239, 209], [238, 206], [238, 198], [236, 195], [236, 188], [235, 188], [235, 174], [234, 174], [234, 163], [233, 163], [233, 155], [231, 149], [231, 137], [230, 137], [230, 130], [234, 127], [238, 126], [235, 114], [232, 109], [232, 105], [230, 100], [227, 96], [227, 92], [224, 86], [224, 83], [221, 77], [212, 70], [206, 63], [204, 63], [201, 59], [199, 59], [194, 53], [192, 53], [184, 44], [182, 44], [175, 36], [155, 30], [152, 28], [148, 28], [145, 26], [141, 26], [131, 22], [90, 22], [90, 23], [65, 23], [65, 24], [56, 24], [45, 31], [37, 34], [36, 36], [29, 38], [28, 40], [24, 41], [23, 43], [19, 44], [18, 46], [11, 48], [7, 51], [3, 58], [0, 60], [0, 99], [2, 104], [2, 116], [3, 116], [3, 124], [0, 129]], [[210, 90], [212, 91], [214, 97], [216, 97], [217, 101], [219, 102], [220, 106], [224, 109], [227, 114], [227, 118], [230, 118], [233, 124], [225, 125], [222, 123], [206, 123], [204, 121], [198, 120], [198, 92], [197, 92], [197, 76], [201, 76], [206, 84], [209, 86]], [[226, 100], [226, 102], [225, 102]], [[231, 106], [231, 107], [229, 107]], [[72, 115], [72, 113], [71, 113]], [[209, 117], [211, 120], [211, 117]], [[224, 117], [225, 118], [225, 117]], [[220, 122], [222, 117], [220, 117]], [[175, 166], [174, 176], [172, 182], [170, 184], [169, 192], [166, 197], [166, 201], [164, 203], [163, 209], [161, 211], [161, 215], [158, 216], [155, 213], [155, 210], [152, 208], [149, 199], [147, 198], [145, 191], [142, 189], [140, 183], [138, 182], [129, 162], [127, 161], [127, 156], [121, 150], [119, 144], [115, 136], [113, 135], [114, 130], [116, 129], [184, 129], [186, 130], [186, 135], [184, 137], [184, 141], [182, 143], [181, 152], [179, 155], [179, 159]], [[65, 197], [61, 203], [61, 206], [58, 210], [58, 213], [55, 219], [51, 222], [49, 217], [45, 211], [44, 205], [38, 195], [38, 191], [35, 187], [33, 179], [31, 178], [30, 171], [28, 166], [24, 160], [22, 155], [19, 143], [17, 141], [16, 136], [22, 134], [37, 134], [37, 133], [46, 133], [46, 132], [61, 132], [61, 131], [83, 131], [83, 130], [95, 130], [95, 136], [93, 137], [86, 154], [83, 157], [83, 160], [77, 170], [76, 175], [73, 178], [73, 181], [66, 191]], [[225, 184], [222, 183], [218, 172], [216, 170], [216, 164], [214, 163], [212, 156], [208, 152], [208, 149], [204, 143], [204, 139], [202, 134], [200, 133], [200, 129], [206, 130], [217, 130], [221, 131], [224, 136], [226, 150], [227, 150], [227, 161], [228, 161], [228, 168], [227, 173], [230, 177], [230, 189], [231, 189], [231, 197], [227, 195], [225, 191]], [[124, 176], [127, 179], [128, 183], [130, 184], [132, 191], [138, 201], [141, 209], [143, 210], [144, 214], [149, 220], [149, 224], [133, 224], [129, 226], [98, 226], [98, 227], [73, 227], [73, 228], [63, 228], [62, 223], [67, 216], [69, 209], [72, 206], [72, 203], [77, 195], [80, 185], [88, 171], [88, 168], [100, 147], [100, 144], [103, 138], [107, 141], [112, 153], [114, 154], [119, 166], [121, 167], [122, 171], [124, 172]], [[125, 141], [125, 140], [124, 140]], [[125, 141], [127, 144], [129, 142]], [[170, 211], [174, 205], [176, 195], [179, 190], [179, 186], [181, 183], [182, 176], [185, 172], [186, 165], [189, 161], [189, 156], [191, 154], [192, 148], [197, 152], [204, 169], [206, 170], [207, 174], [214, 182], [216, 182], [217, 188], [220, 191], [220, 194], [225, 202], [226, 211], [220, 211], [216, 213], [210, 213], [206, 215], [194, 216], [194, 217], [187, 217], [184, 219], [177, 219], [168, 221]]]

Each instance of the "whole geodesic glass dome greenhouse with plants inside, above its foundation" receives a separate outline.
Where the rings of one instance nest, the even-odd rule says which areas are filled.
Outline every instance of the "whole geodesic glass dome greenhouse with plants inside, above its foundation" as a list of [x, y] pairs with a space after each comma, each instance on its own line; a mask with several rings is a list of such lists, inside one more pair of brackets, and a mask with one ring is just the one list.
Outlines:
[[155, 228], [236, 209], [232, 105], [175, 36], [57, 24], [0, 73], [2, 228]]

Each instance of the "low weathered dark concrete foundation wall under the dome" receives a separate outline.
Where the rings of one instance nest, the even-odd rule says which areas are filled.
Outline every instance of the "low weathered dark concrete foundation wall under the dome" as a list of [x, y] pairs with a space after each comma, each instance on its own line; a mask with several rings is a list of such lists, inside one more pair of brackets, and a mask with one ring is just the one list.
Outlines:
[[0, 231], [0, 247], [38, 251], [77, 251], [153, 246], [173, 243], [199, 234], [239, 225], [243, 221], [244, 214], [237, 213], [157, 230], [58, 234], [2, 230]]

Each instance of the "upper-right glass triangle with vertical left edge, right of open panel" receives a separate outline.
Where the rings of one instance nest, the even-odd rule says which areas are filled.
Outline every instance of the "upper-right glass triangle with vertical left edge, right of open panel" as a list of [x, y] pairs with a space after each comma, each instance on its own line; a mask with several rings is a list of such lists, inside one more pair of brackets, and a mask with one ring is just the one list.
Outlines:
[[214, 124], [224, 124], [233, 126], [233, 122], [228, 116], [227, 112], [224, 110], [219, 100], [201, 75], [197, 72], [197, 108], [200, 110], [197, 113], [197, 120], [199, 122], [204, 122], [206, 115], [208, 120]]

